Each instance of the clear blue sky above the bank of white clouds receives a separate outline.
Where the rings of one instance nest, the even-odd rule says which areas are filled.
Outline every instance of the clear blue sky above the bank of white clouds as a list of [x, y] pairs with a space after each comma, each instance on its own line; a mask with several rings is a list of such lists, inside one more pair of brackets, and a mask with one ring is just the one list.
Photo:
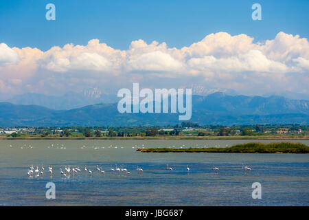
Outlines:
[[[56, 21], [45, 19], [45, 5], [56, 5]], [[251, 19], [251, 5], [262, 5], [262, 21]], [[66, 43], [100, 39], [126, 50], [143, 39], [183, 47], [207, 34], [247, 34], [255, 41], [278, 32], [308, 38], [309, 1], [183, 1], [183, 0], [1, 0], [0, 42], [16, 47], [49, 50]]]

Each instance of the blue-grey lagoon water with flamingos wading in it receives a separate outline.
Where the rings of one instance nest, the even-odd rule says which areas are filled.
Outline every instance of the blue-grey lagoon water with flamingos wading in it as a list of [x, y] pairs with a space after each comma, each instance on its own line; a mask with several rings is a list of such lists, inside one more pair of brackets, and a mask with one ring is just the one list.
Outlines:
[[[136, 148], [231, 146], [253, 140], [1, 140], [1, 206], [308, 206], [309, 155], [140, 153]], [[280, 140], [282, 141], [282, 140]], [[273, 142], [272, 140], [262, 142]], [[309, 145], [309, 140], [297, 140]], [[242, 163], [252, 168], [242, 170]], [[45, 167], [28, 177], [31, 165]], [[130, 171], [113, 172], [121, 165]], [[172, 167], [168, 171], [166, 164]], [[53, 167], [52, 177], [47, 166]], [[60, 168], [81, 172], [63, 177]], [[84, 171], [84, 166], [92, 175]], [[102, 167], [105, 174], [96, 170]], [[190, 172], [187, 172], [187, 165]], [[137, 166], [143, 172], [137, 172]], [[220, 168], [218, 173], [213, 166]], [[56, 199], [46, 199], [47, 182]], [[262, 199], [252, 199], [253, 182]]]

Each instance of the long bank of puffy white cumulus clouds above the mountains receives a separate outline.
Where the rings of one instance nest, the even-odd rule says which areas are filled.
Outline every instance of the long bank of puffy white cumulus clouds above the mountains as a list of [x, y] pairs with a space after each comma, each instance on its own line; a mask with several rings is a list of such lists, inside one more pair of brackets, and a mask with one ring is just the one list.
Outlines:
[[183, 80], [182, 84], [194, 81], [244, 92], [285, 87], [309, 92], [304, 83], [309, 78], [307, 39], [279, 32], [274, 39], [253, 40], [246, 34], [218, 32], [188, 47], [139, 39], [128, 50], [117, 50], [93, 39], [87, 45], [69, 43], [46, 52], [1, 43], [0, 91], [70, 90], [98, 84], [120, 87], [163, 80], [170, 85]]

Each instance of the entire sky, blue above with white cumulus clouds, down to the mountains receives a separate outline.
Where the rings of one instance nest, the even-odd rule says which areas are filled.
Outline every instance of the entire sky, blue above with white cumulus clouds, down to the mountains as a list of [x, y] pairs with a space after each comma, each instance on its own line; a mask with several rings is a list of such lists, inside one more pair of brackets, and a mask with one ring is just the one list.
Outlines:
[[309, 97], [308, 11], [308, 0], [1, 0], [0, 99], [133, 83]]

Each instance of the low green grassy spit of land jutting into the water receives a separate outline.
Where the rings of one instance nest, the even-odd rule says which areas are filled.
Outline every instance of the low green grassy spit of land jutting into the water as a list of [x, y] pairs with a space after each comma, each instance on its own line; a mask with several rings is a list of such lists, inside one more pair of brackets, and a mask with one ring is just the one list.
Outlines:
[[298, 142], [252, 142], [211, 148], [138, 148], [148, 153], [309, 153], [309, 146]]

